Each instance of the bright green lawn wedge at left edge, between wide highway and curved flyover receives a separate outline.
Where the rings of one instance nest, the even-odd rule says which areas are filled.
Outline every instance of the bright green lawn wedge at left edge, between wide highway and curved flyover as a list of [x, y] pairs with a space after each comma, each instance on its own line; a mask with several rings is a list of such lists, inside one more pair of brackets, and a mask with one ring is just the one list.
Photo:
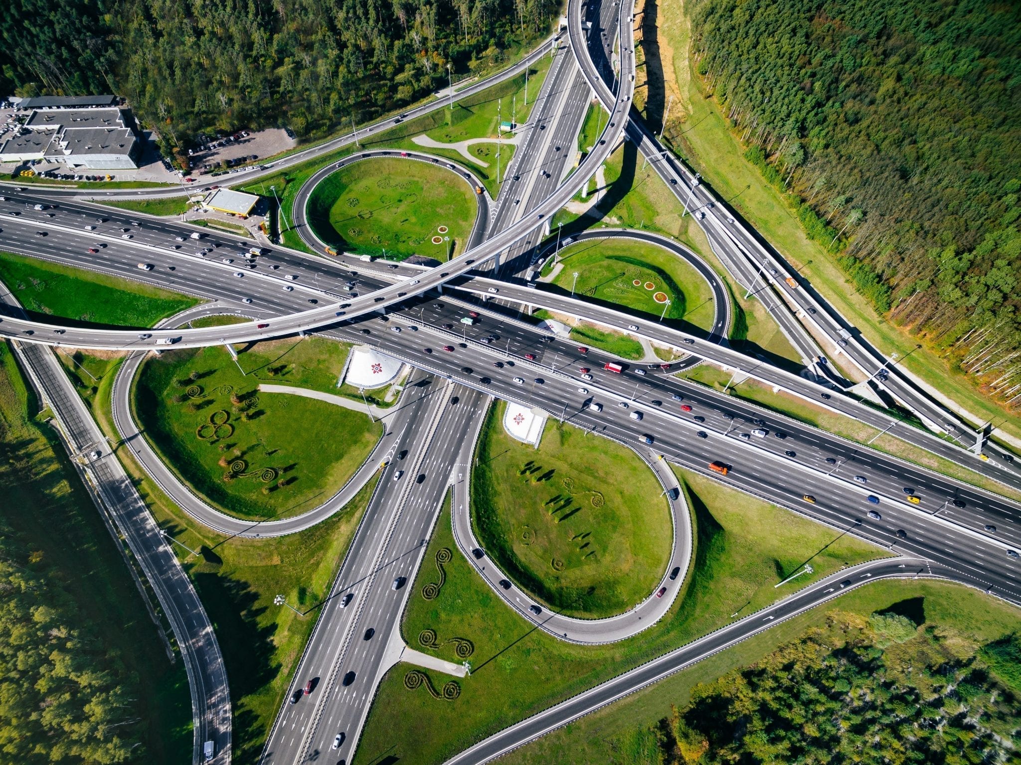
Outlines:
[[201, 301], [82, 268], [0, 253], [0, 280], [31, 318], [67, 325], [152, 326]]

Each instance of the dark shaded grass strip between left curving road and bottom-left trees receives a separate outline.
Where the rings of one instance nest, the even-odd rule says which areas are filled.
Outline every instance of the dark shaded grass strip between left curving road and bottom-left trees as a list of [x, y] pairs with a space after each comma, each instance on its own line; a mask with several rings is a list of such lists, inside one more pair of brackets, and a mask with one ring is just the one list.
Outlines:
[[71, 595], [89, 631], [138, 676], [131, 716], [145, 721], [145, 761], [187, 761], [192, 749], [187, 673], [180, 661], [171, 664], [118, 543], [56, 434], [34, 418], [37, 407], [9, 346], [0, 344], [4, 523], [31, 551], [28, 565]]

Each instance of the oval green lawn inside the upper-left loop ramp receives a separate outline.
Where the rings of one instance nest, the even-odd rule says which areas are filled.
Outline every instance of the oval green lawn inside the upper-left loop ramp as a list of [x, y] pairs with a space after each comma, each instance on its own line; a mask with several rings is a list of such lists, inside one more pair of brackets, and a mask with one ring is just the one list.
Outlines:
[[446, 168], [384, 157], [323, 181], [308, 200], [308, 219], [337, 250], [446, 260], [464, 250], [477, 205], [475, 191]]

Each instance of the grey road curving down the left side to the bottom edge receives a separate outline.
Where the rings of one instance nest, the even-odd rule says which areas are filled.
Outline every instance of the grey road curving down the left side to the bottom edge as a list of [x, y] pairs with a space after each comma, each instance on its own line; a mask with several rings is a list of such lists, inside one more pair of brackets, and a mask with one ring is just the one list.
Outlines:
[[[0, 299], [17, 306], [2, 285]], [[211, 741], [213, 762], [227, 765], [232, 756], [230, 685], [220, 644], [198, 593], [54, 352], [38, 344], [11, 346], [40, 399], [54, 412], [72, 459], [124, 537], [174, 631], [191, 695], [192, 762], [204, 761], [203, 745]]]

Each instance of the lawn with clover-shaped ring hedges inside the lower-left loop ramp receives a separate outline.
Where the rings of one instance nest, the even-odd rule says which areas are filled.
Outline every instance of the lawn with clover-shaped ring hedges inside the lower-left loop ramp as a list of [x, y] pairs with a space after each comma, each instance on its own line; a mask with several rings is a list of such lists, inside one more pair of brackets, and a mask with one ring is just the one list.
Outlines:
[[321, 339], [258, 344], [239, 353], [247, 375], [222, 348], [171, 351], [139, 370], [133, 407], [164, 462], [213, 505], [248, 518], [296, 515], [354, 474], [380, 425], [323, 401], [259, 393], [258, 384], [322, 390], [347, 351]]

